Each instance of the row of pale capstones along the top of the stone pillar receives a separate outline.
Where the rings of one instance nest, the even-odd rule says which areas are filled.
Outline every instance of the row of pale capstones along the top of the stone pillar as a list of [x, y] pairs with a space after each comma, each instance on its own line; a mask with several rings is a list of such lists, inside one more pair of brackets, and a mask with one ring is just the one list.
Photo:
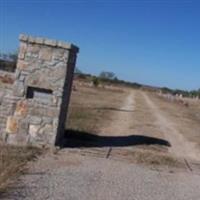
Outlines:
[[74, 44], [68, 44], [62, 41], [58, 41], [58, 40], [52, 40], [52, 39], [42, 38], [42, 37], [32, 37], [26, 34], [20, 34], [19, 40], [23, 42], [27, 42], [27, 43], [42, 44], [42, 45], [47, 45], [47, 46], [52, 46], [52, 47], [59, 47], [62, 49], [68, 49], [68, 50], [75, 51], [76, 53], [79, 52], [79, 48], [75, 46]]

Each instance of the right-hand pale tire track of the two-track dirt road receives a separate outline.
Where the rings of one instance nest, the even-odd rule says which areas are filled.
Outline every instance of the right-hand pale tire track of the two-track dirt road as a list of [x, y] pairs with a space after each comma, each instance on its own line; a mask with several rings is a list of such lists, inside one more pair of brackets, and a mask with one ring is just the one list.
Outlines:
[[172, 154], [180, 158], [200, 161], [200, 152], [193, 142], [184, 138], [184, 136], [175, 128], [174, 123], [165, 116], [164, 112], [150, 99], [147, 93], [141, 92], [146, 104], [151, 108], [152, 115], [156, 118], [156, 124], [164, 134], [164, 137], [170, 142], [169, 149]]

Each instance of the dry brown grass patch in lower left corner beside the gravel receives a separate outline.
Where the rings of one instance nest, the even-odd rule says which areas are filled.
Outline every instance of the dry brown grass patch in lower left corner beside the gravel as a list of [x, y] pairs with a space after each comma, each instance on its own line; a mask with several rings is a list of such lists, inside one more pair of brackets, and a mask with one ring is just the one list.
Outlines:
[[8, 183], [8, 180], [19, 174], [23, 166], [36, 158], [41, 150], [34, 147], [17, 147], [0, 143], [0, 192]]

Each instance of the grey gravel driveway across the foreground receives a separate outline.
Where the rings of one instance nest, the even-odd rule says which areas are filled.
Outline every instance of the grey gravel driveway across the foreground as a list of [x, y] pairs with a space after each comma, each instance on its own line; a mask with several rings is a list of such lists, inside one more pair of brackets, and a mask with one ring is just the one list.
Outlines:
[[67, 149], [29, 163], [4, 200], [199, 200], [200, 174], [82, 156]]

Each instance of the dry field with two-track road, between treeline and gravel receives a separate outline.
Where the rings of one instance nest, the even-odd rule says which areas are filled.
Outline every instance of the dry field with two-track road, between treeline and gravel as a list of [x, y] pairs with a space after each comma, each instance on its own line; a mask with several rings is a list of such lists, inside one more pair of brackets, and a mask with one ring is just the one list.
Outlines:
[[185, 167], [185, 159], [199, 160], [200, 149], [200, 102], [187, 102], [189, 106], [139, 89], [79, 84], [66, 125], [73, 130], [70, 146], [88, 155], [109, 152], [110, 158], [134, 163]]

